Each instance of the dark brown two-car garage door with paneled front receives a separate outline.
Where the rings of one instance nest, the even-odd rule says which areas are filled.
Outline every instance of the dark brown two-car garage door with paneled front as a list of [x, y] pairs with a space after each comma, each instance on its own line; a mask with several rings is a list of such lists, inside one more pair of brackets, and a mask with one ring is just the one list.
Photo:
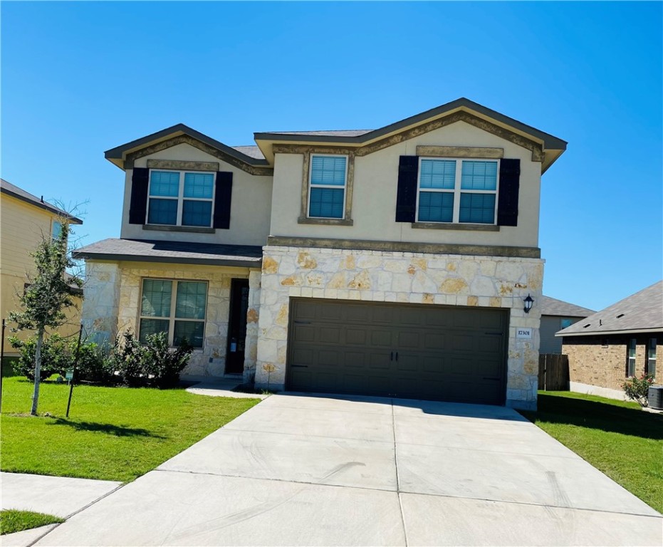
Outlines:
[[502, 405], [508, 313], [293, 299], [287, 387]]

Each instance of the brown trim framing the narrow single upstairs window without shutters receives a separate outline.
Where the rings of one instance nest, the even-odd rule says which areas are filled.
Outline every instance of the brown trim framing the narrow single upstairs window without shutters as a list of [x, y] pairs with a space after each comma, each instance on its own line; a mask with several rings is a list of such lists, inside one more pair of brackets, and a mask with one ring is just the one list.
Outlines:
[[[301, 208], [298, 224], [323, 224], [326, 226], [353, 226], [353, 185], [355, 176], [355, 152], [351, 150], [329, 150], [326, 148], [309, 147], [303, 151], [302, 185], [301, 185]], [[343, 218], [309, 217], [308, 207], [310, 203], [310, 167], [312, 156], [344, 156], [345, 162], [345, 196]]]

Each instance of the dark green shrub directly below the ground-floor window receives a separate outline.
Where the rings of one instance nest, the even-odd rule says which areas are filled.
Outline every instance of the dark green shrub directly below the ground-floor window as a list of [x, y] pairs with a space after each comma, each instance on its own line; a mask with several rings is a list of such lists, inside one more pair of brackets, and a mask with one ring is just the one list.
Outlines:
[[145, 343], [140, 343], [131, 330], [126, 330], [115, 338], [105, 366], [133, 387], [174, 387], [192, 351], [186, 341], [179, 348], [170, 348], [166, 333], [147, 335]]

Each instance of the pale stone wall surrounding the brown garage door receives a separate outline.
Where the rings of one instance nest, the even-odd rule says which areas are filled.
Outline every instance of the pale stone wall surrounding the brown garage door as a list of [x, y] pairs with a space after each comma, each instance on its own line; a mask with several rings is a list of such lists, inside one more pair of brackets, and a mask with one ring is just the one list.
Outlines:
[[[266, 246], [256, 386], [285, 385], [291, 297], [486, 306], [510, 310], [506, 404], [536, 408], [542, 283], [541, 259]], [[533, 338], [516, 339], [518, 327]]]

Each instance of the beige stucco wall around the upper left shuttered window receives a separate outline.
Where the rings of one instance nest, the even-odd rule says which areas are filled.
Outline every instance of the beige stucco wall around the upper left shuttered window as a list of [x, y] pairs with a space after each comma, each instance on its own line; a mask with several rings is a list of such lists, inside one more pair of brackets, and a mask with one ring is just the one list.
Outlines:
[[233, 174], [230, 228], [216, 229], [213, 234], [143, 229], [142, 224], [129, 224], [131, 178], [133, 170], [125, 174], [125, 193], [122, 206], [122, 239], [153, 239], [156, 241], [197, 241], [234, 245], [264, 245], [269, 233], [271, 212], [271, 177], [257, 176], [229, 165], [219, 158], [191, 145], [180, 144], [135, 161], [135, 167], [147, 167], [147, 160], [177, 160], [187, 162], [214, 162], [219, 171]]

